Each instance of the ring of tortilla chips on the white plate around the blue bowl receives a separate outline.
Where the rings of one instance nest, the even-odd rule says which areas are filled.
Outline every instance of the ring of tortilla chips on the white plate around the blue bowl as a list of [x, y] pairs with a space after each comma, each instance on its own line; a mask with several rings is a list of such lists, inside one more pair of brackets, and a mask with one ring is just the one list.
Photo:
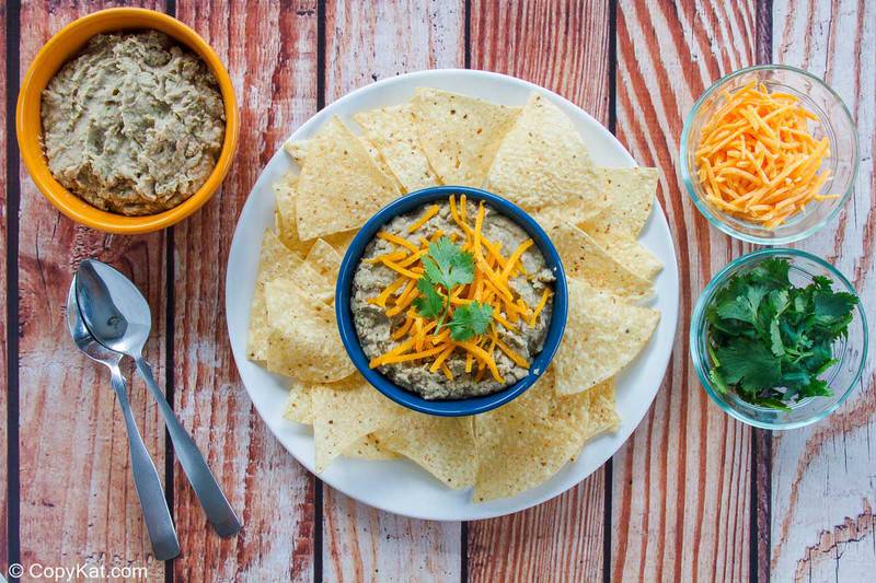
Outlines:
[[[476, 501], [533, 488], [620, 424], [614, 377], [647, 345], [659, 313], [641, 304], [660, 263], [638, 235], [655, 168], [590, 161], [544, 96], [506, 107], [419, 89], [403, 104], [338, 118], [286, 151], [300, 172], [275, 186], [250, 316], [249, 358], [290, 377], [284, 416], [313, 425], [316, 471], [337, 456], [406, 457]], [[568, 277], [563, 343], [521, 397], [469, 418], [402, 408], [359, 375], [341, 343], [334, 288], [342, 255], [373, 213], [436, 185], [481, 187], [537, 218]]]

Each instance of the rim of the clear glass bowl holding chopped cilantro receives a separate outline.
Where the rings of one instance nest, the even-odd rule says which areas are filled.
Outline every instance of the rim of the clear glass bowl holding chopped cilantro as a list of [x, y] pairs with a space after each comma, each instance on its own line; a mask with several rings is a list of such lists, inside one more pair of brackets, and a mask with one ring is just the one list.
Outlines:
[[[830, 272], [830, 275], [833, 278], [835, 278], [837, 281], [839, 281], [842, 285], [845, 287], [844, 291], [851, 292], [855, 295], [855, 298], [857, 298], [857, 304], [855, 305], [855, 308], [857, 311], [858, 317], [861, 318], [861, 327], [863, 329], [863, 342], [861, 346], [861, 362], [857, 365], [857, 371], [854, 374], [854, 378], [849, 383], [849, 386], [845, 387], [843, 394], [840, 395], [840, 397], [833, 404], [831, 404], [830, 407], [826, 408], [822, 411], [819, 411], [818, 413], [809, 417], [808, 419], [786, 422], [786, 423], [783, 422], [771, 423], [771, 422], [759, 421], [747, 415], [744, 415], [742, 412], [733, 407], [729, 407], [727, 405], [726, 399], [724, 399], [717, 393], [717, 390], [715, 390], [714, 386], [712, 386], [712, 382], [708, 378], [707, 371], [705, 371], [700, 365], [701, 354], [696, 348], [700, 343], [699, 341], [700, 336], [698, 334], [698, 328], [705, 318], [706, 304], [708, 300], [714, 295], [715, 291], [727, 281], [727, 278], [733, 272], [735, 272], [737, 268], [751, 265], [757, 260], [774, 256], [791, 256], [792, 258], [798, 257], [802, 259], [807, 259], [828, 270], [828, 272]], [[861, 376], [864, 373], [864, 366], [867, 363], [867, 352], [869, 349], [869, 330], [867, 328], [867, 315], [866, 312], [864, 311], [864, 305], [861, 301], [861, 295], [857, 293], [857, 290], [855, 290], [854, 285], [852, 285], [852, 283], [845, 278], [845, 276], [843, 276], [840, 272], [839, 269], [833, 267], [831, 264], [829, 264], [821, 257], [818, 257], [816, 255], [812, 255], [811, 253], [802, 249], [794, 249], [791, 247], [770, 247], [737, 257], [736, 259], [724, 266], [724, 268], [722, 268], [721, 271], [718, 271], [708, 281], [706, 287], [700, 293], [700, 298], [696, 300], [696, 304], [694, 305], [693, 312], [691, 313], [691, 325], [690, 325], [688, 342], [689, 342], [690, 358], [691, 361], [693, 361], [693, 368], [696, 371], [696, 376], [700, 378], [700, 384], [703, 386], [703, 388], [712, 398], [712, 400], [715, 401], [715, 404], [717, 404], [717, 406], [721, 407], [721, 409], [724, 410], [724, 412], [728, 413], [730, 417], [734, 417], [744, 423], [760, 429], [788, 430], [788, 429], [797, 429], [806, 427], [817, 421], [820, 421], [821, 419], [825, 419], [830, 413], [835, 411], [843, 403], [845, 403], [845, 400], [851, 396], [854, 389], [857, 388], [858, 384], [861, 383]]]

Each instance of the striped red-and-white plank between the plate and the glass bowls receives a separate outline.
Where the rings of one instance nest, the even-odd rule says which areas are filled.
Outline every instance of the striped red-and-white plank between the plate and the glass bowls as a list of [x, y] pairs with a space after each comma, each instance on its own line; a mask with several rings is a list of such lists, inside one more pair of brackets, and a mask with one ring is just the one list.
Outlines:
[[688, 355], [693, 302], [741, 252], [695, 210], [673, 168], [684, 116], [722, 74], [756, 58], [753, 2], [619, 2], [618, 136], [662, 170], [658, 197], [676, 241], [681, 318], [664, 386], [614, 457], [611, 579], [749, 576], [751, 430], [700, 387]]

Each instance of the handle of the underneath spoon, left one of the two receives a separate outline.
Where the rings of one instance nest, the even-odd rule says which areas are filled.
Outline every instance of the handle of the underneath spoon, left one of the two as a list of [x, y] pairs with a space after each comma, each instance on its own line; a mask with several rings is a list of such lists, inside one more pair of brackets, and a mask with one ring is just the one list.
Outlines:
[[161, 478], [158, 476], [155, 465], [149, 456], [140, 430], [130, 411], [128, 403], [128, 392], [125, 387], [125, 377], [117, 365], [110, 366], [112, 372], [112, 385], [125, 416], [125, 425], [128, 431], [128, 448], [130, 450], [130, 467], [134, 473], [134, 483], [137, 487], [137, 495], [140, 497], [140, 506], [143, 509], [146, 527], [149, 530], [149, 538], [152, 540], [152, 550], [155, 559], [166, 561], [180, 555], [180, 540], [176, 538], [176, 529], [173, 527], [173, 518], [164, 498], [164, 490], [161, 487]]

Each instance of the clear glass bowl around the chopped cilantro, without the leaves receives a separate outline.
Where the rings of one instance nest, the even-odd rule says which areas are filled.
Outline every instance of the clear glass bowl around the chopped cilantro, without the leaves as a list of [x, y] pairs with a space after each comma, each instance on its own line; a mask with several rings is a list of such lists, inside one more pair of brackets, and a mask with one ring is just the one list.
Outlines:
[[832, 265], [806, 252], [788, 248], [769, 248], [744, 255], [722, 269], [708, 282], [708, 285], [706, 285], [696, 301], [691, 318], [691, 358], [706, 393], [725, 412], [744, 423], [762, 429], [794, 429], [823, 419], [842, 405], [855, 389], [861, 381], [861, 373], [864, 371], [864, 364], [867, 359], [867, 320], [864, 315], [864, 306], [858, 301], [854, 311], [854, 318], [849, 324], [849, 335], [844, 339], [840, 338], [833, 345], [833, 357], [838, 362], [821, 375], [821, 378], [830, 385], [833, 392], [832, 397], [810, 397], [791, 405], [789, 411], [780, 411], [751, 405], [740, 399], [731, 390], [722, 395], [708, 378], [712, 363], [707, 350], [708, 323], [705, 318], [706, 306], [712, 302], [715, 293], [733, 276], [740, 271], [747, 271], [770, 257], [784, 258], [791, 263], [789, 279], [794, 285], [807, 285], [815, 276], [825, 276], [831, 280], [834, 290], [848, 291], [857, 295], [852, 284]]

